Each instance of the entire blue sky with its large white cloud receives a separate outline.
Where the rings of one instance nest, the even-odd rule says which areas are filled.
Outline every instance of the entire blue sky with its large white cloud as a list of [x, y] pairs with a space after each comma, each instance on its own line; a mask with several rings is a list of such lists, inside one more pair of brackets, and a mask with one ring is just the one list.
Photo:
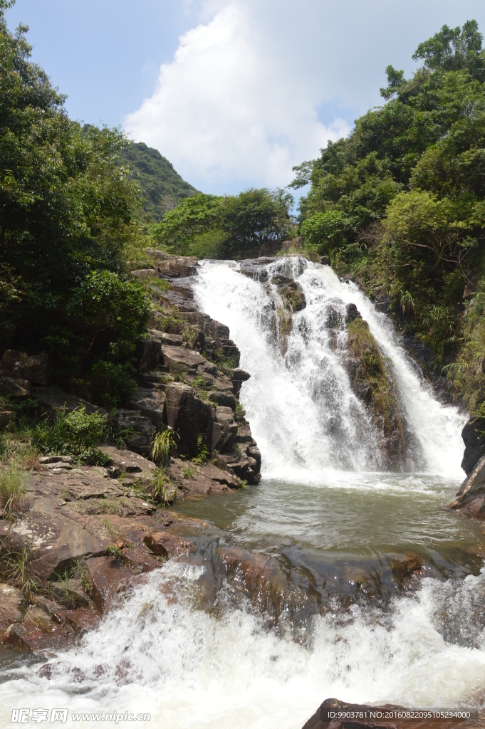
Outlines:
[[7, 26], [79, 121], [120, 126], [198, 190], [285, 187], [381, 104], [419, 42], [483, 0], [17, 0]]

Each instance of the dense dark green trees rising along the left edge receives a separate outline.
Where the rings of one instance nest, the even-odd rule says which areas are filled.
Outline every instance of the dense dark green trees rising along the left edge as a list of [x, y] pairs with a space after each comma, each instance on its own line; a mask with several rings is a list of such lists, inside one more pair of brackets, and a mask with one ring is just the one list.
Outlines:
[[120, 401], [120, 371], [100, 378], [93, 366], [131, 364], [146, 330], [124, 269], [139, 184], [119, 130], [69, 120], [65, 97], [29, 61], [26, 31], [0, 20], [0, 349], [50, 351], [59, 383], [92, 376], [92, 397]]

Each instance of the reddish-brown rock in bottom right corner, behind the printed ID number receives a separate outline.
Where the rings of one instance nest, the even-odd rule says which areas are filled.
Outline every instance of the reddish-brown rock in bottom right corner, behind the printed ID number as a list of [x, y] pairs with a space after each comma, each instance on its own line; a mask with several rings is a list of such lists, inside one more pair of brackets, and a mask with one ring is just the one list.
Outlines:
[[327, 698], [317, 712], [314, 713], [303, 729], [478, 729], [483, 723], [479, 723], [477, 712], [476, 720], [473, 719], [437, 719], [436, 717], [400, 718], [400, 714], [408, 712], [403, 706], [395, 704], [384, 704], [384, 706], [368, 706], [360, 703], [346, 703], [336, 698]]

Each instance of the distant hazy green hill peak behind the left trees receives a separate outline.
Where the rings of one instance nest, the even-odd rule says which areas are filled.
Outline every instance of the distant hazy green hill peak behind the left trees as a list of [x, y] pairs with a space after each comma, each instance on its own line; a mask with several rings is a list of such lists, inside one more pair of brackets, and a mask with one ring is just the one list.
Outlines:
[[141, 217], [146, 222], [160, 221], [166, 211], [198, 192], [182, 179], [174, 165], [160, 155], [158, 149], [147, 147], [143, 142], [129, 141], [122, 156], [131, 169], [133, 179], [140, 184]]

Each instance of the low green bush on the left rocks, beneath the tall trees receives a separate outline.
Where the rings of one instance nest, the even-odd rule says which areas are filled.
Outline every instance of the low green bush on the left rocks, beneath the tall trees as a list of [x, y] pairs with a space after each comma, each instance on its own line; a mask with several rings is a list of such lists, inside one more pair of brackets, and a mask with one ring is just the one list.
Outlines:
[[96, 448], [104, 440], [108, 418], [87, 413], [85, 407], [71, 413], [57, 413], [53, 422], [44, 420], [34, 428], [34, 442], [40, 451], [72, 456], [78, 464], [105, 466], [108, 456]]

